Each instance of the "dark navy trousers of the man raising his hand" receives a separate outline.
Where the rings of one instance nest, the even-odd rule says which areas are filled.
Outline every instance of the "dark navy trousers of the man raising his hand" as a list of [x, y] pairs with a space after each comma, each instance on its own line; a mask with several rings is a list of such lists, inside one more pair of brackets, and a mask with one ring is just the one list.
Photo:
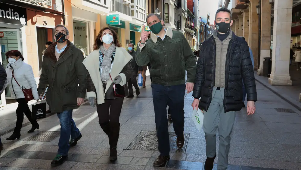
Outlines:
[[177, 136], [184, 134], [184, 96], [186, 85], [164, 86], [151, 84], [153, 88], [153, 102], [155, 123], [158, 137], [160, 156], [169, 155], [169, 133], [166, 108], [169, 106], [173, 128]]

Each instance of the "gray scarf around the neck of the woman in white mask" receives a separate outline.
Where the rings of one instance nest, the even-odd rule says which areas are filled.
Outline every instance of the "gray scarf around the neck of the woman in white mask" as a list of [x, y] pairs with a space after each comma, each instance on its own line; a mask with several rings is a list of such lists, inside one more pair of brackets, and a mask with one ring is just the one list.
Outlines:
[[104, 46], [100, 46], [99, 49], [104, 55], [104, 60], [101, 63], [101, 80], [104, 82], [110, 80], [111, 57], [112, 53], [116, 49], [116, 46], [114, 43], [112, 43], [109, 49], [105, 49]]

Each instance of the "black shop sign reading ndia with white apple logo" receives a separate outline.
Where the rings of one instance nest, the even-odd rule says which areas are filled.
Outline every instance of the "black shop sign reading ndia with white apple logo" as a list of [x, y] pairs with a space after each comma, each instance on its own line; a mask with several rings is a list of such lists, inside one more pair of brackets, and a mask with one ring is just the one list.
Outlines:
[[0, 3], [0, 22], [27, 25], [26, 9], [14, 5]]

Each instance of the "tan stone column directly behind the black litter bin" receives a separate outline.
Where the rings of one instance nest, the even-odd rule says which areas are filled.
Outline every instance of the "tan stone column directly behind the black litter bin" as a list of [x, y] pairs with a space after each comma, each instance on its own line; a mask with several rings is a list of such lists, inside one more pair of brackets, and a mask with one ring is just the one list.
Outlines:
[[258, 75], [263, 73], [263, 58], [270, 57], [271, 53], [271, 10], [269, 0], [261, 0], [261, 40], [260, 40], [260, 65]]

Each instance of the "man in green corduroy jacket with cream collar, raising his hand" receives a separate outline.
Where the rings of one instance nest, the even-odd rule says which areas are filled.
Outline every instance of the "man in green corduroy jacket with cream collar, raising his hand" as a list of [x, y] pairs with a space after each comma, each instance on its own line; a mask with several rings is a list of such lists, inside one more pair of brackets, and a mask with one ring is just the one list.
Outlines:
[[[160, 156], [154, 166], [163, 166], [169, 158], [169, 133], [166, 107], [169, 106], [173, 127], [177, 135], [177, 146], [184, 145], [184, 96], [193, 90], [196, 61], [185, 36], [171, 28], [163, 28], [160, 15], [147, 16], [150, 32], [143, 26], [138, 43], [136, 62], [139, 66], [151, 64], [153, 102]], [[185, 74], [187, 71], [187, 81]]]

